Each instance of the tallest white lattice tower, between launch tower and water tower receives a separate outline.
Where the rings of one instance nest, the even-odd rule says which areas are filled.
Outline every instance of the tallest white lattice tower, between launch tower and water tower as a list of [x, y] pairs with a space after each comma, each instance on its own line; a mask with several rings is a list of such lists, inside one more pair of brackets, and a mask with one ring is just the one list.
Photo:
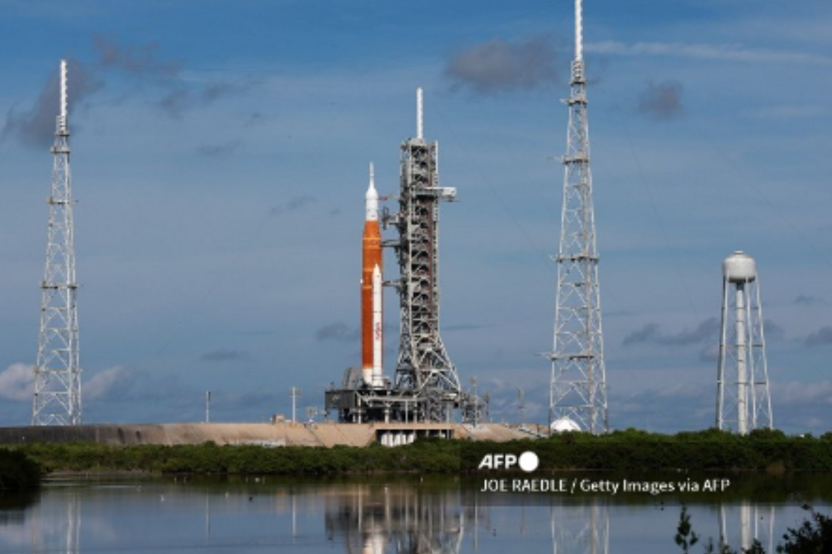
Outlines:
[[601, 331], [601, 291], [589, 169], [587, 79], [582, 57], [581, 0], [575, 2], [575, 61], [563, 157], [563, 212], [557, 253], [549, 423], [607, 433], [607, 380]]

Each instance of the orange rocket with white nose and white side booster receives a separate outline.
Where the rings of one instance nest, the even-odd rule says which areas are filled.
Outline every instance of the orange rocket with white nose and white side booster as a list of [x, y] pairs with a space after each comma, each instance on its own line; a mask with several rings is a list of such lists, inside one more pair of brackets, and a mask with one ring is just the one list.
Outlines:
[[369, 164], [369, 188], [364, 196], [366, 217], [361, 239], [361, 377], [364, 385], [384, 386], [382, 344], [384, 326], [381, 302], [381, 230], [379, 193], [375, 189], [373, 164]]

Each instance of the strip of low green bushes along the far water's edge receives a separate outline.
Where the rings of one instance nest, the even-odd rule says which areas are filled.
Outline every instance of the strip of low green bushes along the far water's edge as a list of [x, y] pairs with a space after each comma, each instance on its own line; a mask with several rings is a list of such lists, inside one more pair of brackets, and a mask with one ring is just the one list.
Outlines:
[[0, 449], [0, 453], [18, 457], [25, 454], [44, 473], [326, 475], [475, 473], [486, 454], [519, 454], [527, 450], [540, 458], [538, 473], [564, 469], [735, 469], [773, 473], [832, 469], [832, 433], [820, 438], [792, 437], [770, 430], [738, 436], [714, 429], [675, 435], [627, 429], [602, 436], [567, 433], [510, 443], [419, 440], [392, 449], [378, 444], [366, 448], [324, 449], [213, 443], [179, 446], [39, 443], [7, 447]]

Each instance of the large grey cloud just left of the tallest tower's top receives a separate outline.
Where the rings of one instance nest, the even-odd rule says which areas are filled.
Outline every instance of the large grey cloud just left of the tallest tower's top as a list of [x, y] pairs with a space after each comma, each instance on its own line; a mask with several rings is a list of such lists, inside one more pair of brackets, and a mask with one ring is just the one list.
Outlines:
[[452, 91], [468, 89], [479, 95], [531, 91], [559, 81], [555, 58], [548, 37], [525, 42], [494, 39], [453, 56], [444, 76]]

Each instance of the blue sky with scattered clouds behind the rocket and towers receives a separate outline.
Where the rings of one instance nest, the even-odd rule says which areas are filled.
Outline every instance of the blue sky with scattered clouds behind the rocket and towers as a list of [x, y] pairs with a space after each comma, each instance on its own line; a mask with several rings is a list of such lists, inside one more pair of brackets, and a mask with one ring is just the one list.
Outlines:
[[[198, 421], [206, 390], [214, 420], [289, 414], [292, 386], [322, 408], [359, 364], [367, 166], [397, 191], [417, 86], [458, 189], [440, 223], [448, 354], [494, 420], [518, 420], [518, 388], [547, 419], [572, 2], [0, 9], [0, 425], [31, 416], [61, 58], [85, 422]], [[742, 249], [775, 426], [830, 429], [830, 26], [821, 0], [584, 2], [613, 428], [713, 424], [721, 262]]]

